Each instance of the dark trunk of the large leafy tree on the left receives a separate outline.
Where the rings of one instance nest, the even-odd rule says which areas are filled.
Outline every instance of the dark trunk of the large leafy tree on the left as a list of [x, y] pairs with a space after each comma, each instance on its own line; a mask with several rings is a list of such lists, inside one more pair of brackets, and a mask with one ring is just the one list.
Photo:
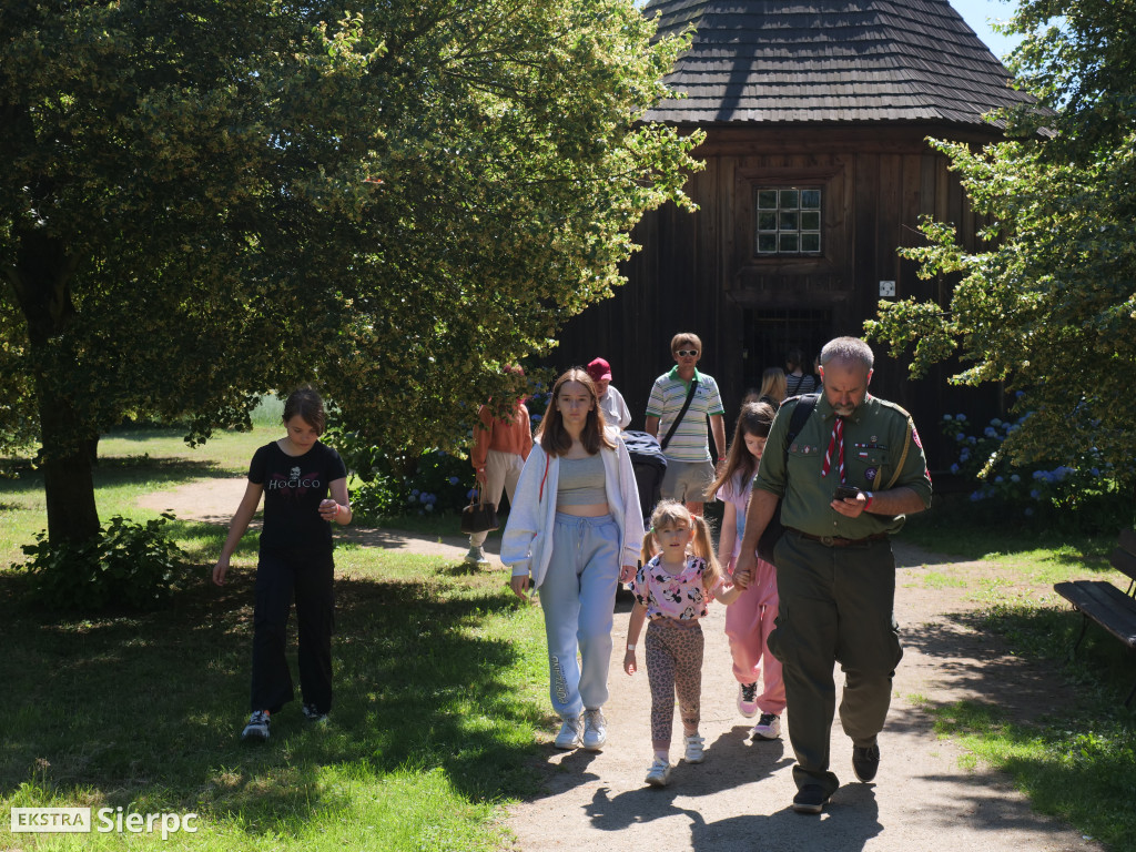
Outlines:
[[17, 231], [17, 261], [8, 279], [27, 321], [27, 340], [35, 366], [35, 396], [40, 411], [40, 465], [48, 503], [48, 538], [52, 544], [82, 542], [99, 532], [89, 443], [91, 431], [64, 391], [66, 375], [52, 340], [75, 319], [70, 278], [76, 259], [62, 243], [35, 229]]

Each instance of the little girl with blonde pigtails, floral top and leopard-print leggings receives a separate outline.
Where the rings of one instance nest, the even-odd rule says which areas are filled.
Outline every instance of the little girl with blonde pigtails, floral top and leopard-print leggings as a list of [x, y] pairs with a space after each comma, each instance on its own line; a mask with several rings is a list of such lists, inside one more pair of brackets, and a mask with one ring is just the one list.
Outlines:
[[[686, 552], [691, 546], [691, 553]], [[699, 619], [715, 598], [724, 603], [742, 590], [726, 585], [713, 556], [710, 528], [683, 504], [665, 500], [651, 516], [651, 532], [643, 542], [643, 558], [632, 582], [635, 608], [627, 627], [624, 671], [638, 669], [635, 643], [643, 621], [650, 619], [644, 648], [646, 676], [651, 684], [651, 745], [654, 762], [646, 783], [665, 787], [670, 780], [670, 733], [675, 717], [675, 693], [683, 720], [683, 744], [687, 763], [701, 763], [703, 738], [699, 736], [702, 694], [702, 627]]]

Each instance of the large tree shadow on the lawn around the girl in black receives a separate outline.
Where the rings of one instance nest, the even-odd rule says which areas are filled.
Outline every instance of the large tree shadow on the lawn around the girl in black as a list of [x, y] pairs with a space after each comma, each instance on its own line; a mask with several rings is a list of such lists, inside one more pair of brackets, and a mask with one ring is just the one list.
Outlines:
[[[0, 575], [0, 794], [35, 780], [111, 807], [160, 801], [292, 830], [343, 805], [327, 767], [378, 779], [441, 771], [474, 802], [531, 792], [540, 710], [508, 680], [517, 652], [481, 634], [516, 608], [460, 579], [336, 580], [335, 705], [312, 726], [296, 701], [249, 747], [252, 578], [204, 583], [174, 609], [49, 621]], [[294, 636], [293, 636], [294, 646]], [[292, 654], [294, 658], [294, 653]], [[295, 669], [293, 659], [293, 671]]]

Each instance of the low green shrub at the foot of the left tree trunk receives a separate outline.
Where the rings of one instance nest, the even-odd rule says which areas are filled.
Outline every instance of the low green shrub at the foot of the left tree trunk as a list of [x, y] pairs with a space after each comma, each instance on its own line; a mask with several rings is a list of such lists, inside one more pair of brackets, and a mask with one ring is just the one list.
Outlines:
[[154, 609], [189, 578], [184, 552], [162, 531], [167, 519], [132, 524], [115, 516], [82, 544], [52, 544], [41, 532], [23, 548], [27, 561], [12, 568], [30, 573], [31, 599], [49, 609]]

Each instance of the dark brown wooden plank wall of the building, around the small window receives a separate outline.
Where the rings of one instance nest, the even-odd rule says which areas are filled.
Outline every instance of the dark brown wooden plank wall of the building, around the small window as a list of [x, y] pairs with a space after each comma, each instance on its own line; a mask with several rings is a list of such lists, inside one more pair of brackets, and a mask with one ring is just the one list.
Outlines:
[[[811, 362], [824, 341], [862, 334], [864, 319], [876, 315], [880, 281], [895, 281], [899, 299], [945, 303], [951, 282], [920, 281], [917, 265], [896, 254], [900, 247], [921, 244], [920, 216], [955, 223], [968, 248], [982, 248], [961, 185], [926, 137], [982, 143], [993, 133], [916, 125], [707, 131], [696, 151], [705, 169], [686, 187], [699, 210], [668, 204], [644, 217], [634, 233], [643, 250], [624, 269], [627, 285], [571, 320], [549, 359], [566, 368], [607, 358], [633, 428], [643, 427], [652, 382], [674, 364], [669, 342], [676, 332], [702, 337], [699, 367], [718, 381], [732, 433], [745, 390], [766, 367], [784, 366], [785, 345], [801, 346]], [[778, 183], [825, 187], [822, 257], [754, 254], [753, 187]], [[872, 348], [872, 392], [914, 415], [933, 467], [950, 463], [949, 446], [938, 438], [943, 414], [997, 412], [996, 389], [947, 385], [955, 365], [911, 381], [907, 364], [889, 358], [882, 344]]]

